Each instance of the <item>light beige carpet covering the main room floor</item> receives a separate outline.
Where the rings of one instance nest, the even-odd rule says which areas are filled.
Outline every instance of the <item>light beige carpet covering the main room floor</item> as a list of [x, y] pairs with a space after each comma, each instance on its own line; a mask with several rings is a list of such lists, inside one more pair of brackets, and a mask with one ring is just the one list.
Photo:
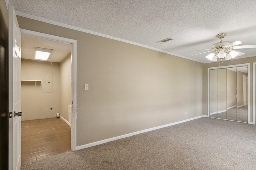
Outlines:
[[200, 118], [22, 164], [22, 170], [255, 170], [256, 126]]

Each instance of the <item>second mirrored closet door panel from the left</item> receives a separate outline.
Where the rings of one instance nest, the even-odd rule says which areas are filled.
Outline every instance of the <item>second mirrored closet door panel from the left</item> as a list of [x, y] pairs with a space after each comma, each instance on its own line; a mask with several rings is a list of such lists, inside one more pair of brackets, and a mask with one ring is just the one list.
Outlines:
[[227, 119], [227, 69], [218, 69], [218, 118]]

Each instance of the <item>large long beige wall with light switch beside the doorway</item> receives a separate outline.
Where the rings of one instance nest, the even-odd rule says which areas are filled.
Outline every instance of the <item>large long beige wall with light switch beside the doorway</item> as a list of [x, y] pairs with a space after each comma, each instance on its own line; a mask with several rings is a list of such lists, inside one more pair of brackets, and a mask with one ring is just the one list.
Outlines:
[[23, 29], [77, 40], [77, 146], [203, 114], [204, 64], [17, 18]]

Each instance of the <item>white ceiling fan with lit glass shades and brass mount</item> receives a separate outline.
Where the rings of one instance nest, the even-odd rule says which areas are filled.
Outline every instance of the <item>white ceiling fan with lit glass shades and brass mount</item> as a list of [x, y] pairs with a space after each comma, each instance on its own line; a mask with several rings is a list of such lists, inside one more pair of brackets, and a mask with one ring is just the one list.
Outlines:
[[[212, 49], [204, 49], [204, 50], [196, 50], [196, 51], [205, 51], [204, 53], [210, 53], [209, 55], [206, 55], [206, 58], [210, 61], [217, 61], [217, 59], [220, 59], [220, 61], [233, 59], [236, 56], [244, 55], [244, 53], [240, 51], [236, 51], [234, 49], [248, 49], [248, 48], [256, 48], [256, 45], [239, 45], [243, 43], [243, 41], [234, 41], [233, 43], [230, 43], [229, 41], [222, 41], [222, 38], [226, 36], [226, 33], [220, 33], [217, 35], [218, 38], [220, 38], [220, 42], [215, 43], [212, 45]], [[210, 50], [210, 51], [209, 51]], [[203, 53], [199, 53], [203, 54]], [[195, 54], [195, 55], [199, 55]], [[194, 56], [194, 55], [191, 55]], [[190, 56], [190, 57], [191, 57]]]

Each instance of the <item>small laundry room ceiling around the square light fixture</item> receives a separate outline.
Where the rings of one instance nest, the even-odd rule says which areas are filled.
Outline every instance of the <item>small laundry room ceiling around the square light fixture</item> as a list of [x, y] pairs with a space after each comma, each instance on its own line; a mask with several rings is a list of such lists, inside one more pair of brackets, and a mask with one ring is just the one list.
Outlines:
[[[21, 56], [22, 59], [37, 60], [34, 57], [34, 47], [53, 49], [47, 61], [60, 63], [72, 50], [70, 43], [62, 43], [28, 35], [21, 35]], [[38, 60], [40, 61], [40, 60]]]

